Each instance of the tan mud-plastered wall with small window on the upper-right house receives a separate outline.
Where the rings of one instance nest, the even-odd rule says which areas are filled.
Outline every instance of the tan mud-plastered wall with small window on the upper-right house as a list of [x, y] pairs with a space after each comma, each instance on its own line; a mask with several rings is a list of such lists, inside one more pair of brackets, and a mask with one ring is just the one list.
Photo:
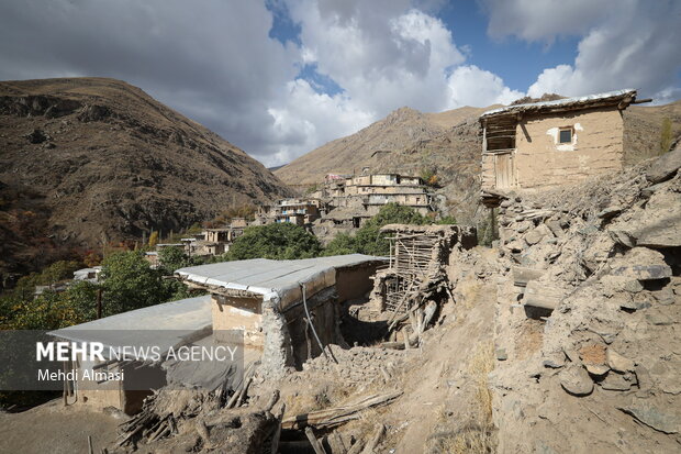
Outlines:
[[[557, 143], [558, 130], [566, 126], [573, 129], [570, 145]], [[517, 184], [547, 188], [619, 170], [623, 134], [622, 114], [612, 108], [523, 119], [515, 132]], [[485, 175], [483, 168], [483, 180]]]

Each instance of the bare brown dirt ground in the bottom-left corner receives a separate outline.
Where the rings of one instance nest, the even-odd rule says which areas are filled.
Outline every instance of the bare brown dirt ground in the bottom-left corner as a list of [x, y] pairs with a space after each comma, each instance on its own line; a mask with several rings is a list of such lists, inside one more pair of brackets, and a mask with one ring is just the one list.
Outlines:
[[0, 413], [0, 453], [87, 453], [88, 435], [98, 453], [115, 439], [120, 422], [101, 411], [64, 408], [60, 399], [21, 413]]

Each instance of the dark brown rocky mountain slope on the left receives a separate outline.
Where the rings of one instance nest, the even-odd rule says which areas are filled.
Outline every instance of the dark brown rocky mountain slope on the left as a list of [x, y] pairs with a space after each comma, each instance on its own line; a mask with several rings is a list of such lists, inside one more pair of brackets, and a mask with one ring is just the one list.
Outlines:
[[37, 210], [51, 237], [90, 247], [292, 193], [238, 147], [113, 79], [0, 82], [0, 209]]

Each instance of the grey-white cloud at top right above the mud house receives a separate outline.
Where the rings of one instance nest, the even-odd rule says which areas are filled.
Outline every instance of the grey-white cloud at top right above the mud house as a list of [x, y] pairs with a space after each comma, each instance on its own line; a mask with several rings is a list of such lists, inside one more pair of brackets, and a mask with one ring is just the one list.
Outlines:
[[488, 33], [550, 43], [559, 35], [581, 41], [573, 63], [545, 69], [528, 95], [581, 96], [638, 88], [657, 102], [681, 95], [681, 3], [678, 1], [485, 0]]

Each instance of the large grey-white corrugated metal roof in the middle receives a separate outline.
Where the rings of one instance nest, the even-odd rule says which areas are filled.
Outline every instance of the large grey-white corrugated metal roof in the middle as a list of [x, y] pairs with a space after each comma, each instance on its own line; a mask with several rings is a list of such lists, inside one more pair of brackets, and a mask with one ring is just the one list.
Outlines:
[[362, 254], [299, 261], [253, 258], [180, 268], [175, 274], [199, 285], [246, 290], [258, 295], [275, 292], [283, 296], [289, 290], [297, 289], [300, 284], [314, 280], [333, 268], [386, 261], [386, 257]]

